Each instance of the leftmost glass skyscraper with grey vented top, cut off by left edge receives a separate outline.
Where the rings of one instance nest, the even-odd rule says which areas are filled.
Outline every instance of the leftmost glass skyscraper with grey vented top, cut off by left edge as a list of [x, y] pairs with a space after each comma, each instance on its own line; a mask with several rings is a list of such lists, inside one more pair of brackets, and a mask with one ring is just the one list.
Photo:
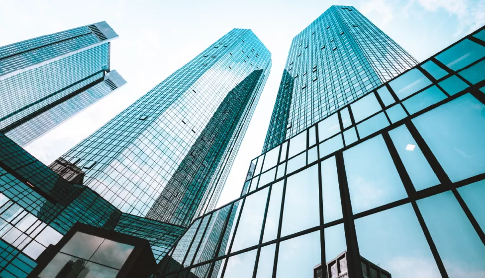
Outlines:
[[0, 47], [0, 132], [26, 145], [124, 84], [117, 37], [103, 21]]

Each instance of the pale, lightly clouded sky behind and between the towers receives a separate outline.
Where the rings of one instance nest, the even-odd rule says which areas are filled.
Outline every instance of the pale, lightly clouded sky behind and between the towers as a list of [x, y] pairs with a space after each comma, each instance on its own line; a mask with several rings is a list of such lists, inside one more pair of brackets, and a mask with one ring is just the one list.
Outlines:
[[248, 28], [273, 67], [224, 186], [219, 206], [239, 197], [261, 153], [291, 39], [330, 5], [353, 5], [418, 61], [485, 24], [481, 0], [1, 0], [0, 46], [106, 21], [119, 35], [111, 69], [127, 84], [25, 147], [49, 164], [88, 137], [232, 28]]

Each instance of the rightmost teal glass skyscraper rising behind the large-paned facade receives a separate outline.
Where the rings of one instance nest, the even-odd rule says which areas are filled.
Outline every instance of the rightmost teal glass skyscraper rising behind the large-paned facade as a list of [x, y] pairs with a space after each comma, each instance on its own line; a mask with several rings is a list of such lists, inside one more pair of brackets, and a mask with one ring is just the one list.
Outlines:
[[263, 152], [417, 61], [352, 6], [331, 6], [290, 47]]

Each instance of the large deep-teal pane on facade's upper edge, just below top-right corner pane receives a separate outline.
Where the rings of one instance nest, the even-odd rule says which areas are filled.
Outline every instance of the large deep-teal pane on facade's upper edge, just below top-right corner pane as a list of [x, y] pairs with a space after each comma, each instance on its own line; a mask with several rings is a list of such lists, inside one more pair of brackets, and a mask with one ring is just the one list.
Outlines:
[[452, 70], [460, 70], [483, 57], [485, 57], [485, 47], [469, 39], [464, 39], [436, 55], [436, 60]]

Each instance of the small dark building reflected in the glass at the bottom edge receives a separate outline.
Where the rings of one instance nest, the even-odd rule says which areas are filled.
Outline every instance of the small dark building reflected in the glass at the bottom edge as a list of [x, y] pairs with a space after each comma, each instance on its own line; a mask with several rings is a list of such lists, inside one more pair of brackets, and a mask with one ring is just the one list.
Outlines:
[[[390, 273], [361, 256], [362, 275], [364, 278], [391, 278]], [[325, 270], [318, 264], [313, 268], [314, 278], [348, 278], [347, 251], [325, 264]], [[325, 276], [326, 274], [326, 276]]]

